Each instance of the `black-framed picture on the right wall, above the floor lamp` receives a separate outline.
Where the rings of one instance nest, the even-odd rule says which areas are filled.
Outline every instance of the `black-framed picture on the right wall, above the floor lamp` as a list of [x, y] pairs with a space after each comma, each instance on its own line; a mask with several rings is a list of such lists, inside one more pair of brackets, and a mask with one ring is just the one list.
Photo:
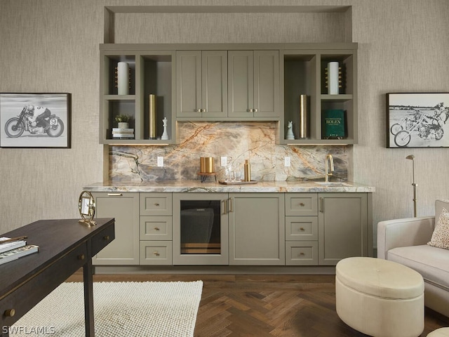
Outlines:
[[449, 147], [449, 93], [387, 93], [387, 147]]

